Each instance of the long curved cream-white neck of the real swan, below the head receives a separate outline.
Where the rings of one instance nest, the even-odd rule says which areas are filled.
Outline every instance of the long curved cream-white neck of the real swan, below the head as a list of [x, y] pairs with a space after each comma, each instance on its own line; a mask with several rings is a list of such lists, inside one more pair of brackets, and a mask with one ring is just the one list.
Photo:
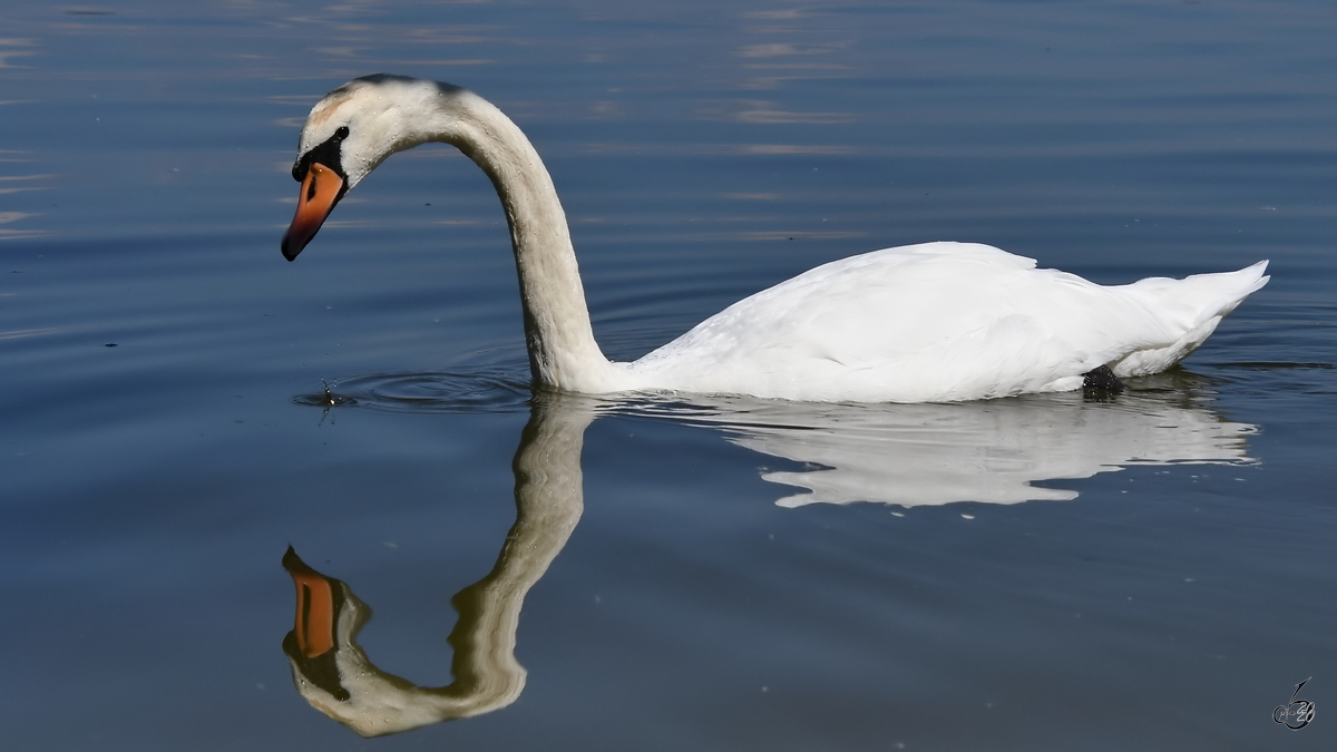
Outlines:
[[539, 384], [578, 392], [602, 391], [608, 360], [590, 326], [584, 289], [567, 217], [539, 153], [520, 128], [469, 91], [443, 92], [444, 119], [432, 140], [456, 146], [496, 186], [511, 227], [520, 276], [529, 369]]

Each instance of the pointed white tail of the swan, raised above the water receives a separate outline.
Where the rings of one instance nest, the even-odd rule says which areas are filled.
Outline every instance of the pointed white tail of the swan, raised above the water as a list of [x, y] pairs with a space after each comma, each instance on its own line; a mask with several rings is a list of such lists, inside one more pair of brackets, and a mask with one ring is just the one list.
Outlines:
[[1159, 373], [1179, 363], [1217, 331], [1246, 297], [1267, 284], [1266, 261], [1237, 272], [1194, 274], [1183, 280], [1151, 277], [1127, 286], [1161, 310], [1183, 335], [1169, 347], [1139, 349], [1111, 363], [1118, 376]]

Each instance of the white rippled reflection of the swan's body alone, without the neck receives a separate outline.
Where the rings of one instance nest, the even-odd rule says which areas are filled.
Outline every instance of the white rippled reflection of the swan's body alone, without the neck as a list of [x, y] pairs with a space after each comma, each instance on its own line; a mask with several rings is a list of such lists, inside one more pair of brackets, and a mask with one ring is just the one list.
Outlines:
[[[721, 416], [726, 423], [727, 413]], [[773, 424], [767, 424], [774, 421]], [[750, 450], [821, 466], [767, 472], [808, 488], [777, 503], [1063, 500], [1076, 491], [1036, 480], [1090, 478], [1131, 464], [1245, 463], [1257, 428], [1203, 408], [1126, 393], [1118, 403], [1048, 395], [961, 404], [777, 405], [725, 426]]]

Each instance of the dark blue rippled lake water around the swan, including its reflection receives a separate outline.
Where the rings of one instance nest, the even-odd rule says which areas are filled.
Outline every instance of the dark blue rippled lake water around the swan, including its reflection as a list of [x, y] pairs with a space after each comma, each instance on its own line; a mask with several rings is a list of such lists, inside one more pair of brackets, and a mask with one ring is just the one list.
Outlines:
[[[4, 747], [1332, 749], [1333, 39], [1317, 0], [7, 3]], [[533, 396], [451, 149], [279, 256], [299, 123], [380, 71], [529, 134], [616, 359], [932, 240], [1273, 278], [1112, 401]]]

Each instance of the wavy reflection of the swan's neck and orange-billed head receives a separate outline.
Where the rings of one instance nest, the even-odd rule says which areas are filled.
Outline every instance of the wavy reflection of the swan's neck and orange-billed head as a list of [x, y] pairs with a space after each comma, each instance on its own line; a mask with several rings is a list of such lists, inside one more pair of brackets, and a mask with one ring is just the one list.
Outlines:
[[520, 605], [580, 519], [580, 444], [592, 417], [588, 401], [535, 399], [513, 463], [515, 525], [492, 571], [451, 599], [460, 618], [447, 638], [455, 652], [448, 686], [418, 686], [378, 669], [357, 644], [372, 610], [345, 582], [317, 573], [289, 549], [283, 567], [297, 586], [297, 618], [283, 652], [302, 697], [362, 736], [515, 702], [525, 678], [515, 660]]

